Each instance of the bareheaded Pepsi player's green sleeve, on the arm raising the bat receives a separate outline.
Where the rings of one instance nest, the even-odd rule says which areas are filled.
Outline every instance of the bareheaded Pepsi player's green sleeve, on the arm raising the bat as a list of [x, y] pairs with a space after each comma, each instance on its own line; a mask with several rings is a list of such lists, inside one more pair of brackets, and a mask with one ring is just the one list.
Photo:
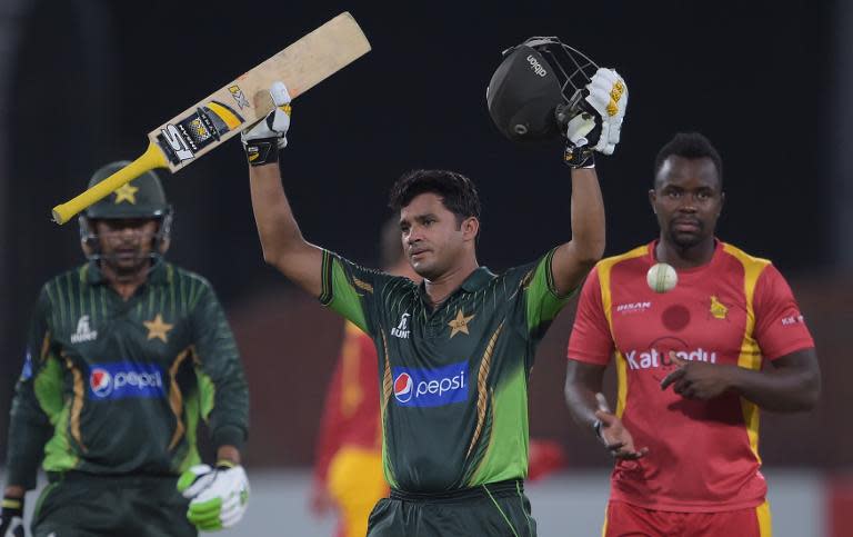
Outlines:
[[[379, 322], [377, 302], [392, 280], [405, 280], [361, 267], [329, 250], [323, 251], [320, 302], [342, 315], [371, 337]], [[408, 280], [407, 280], [408, 281]]]

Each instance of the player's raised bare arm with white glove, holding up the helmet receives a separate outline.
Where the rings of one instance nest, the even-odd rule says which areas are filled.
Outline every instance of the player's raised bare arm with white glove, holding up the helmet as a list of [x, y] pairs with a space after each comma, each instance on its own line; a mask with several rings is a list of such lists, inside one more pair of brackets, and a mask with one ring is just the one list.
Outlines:
[[[572, 239], [558, 248], [551, 265], [561, 295], [574, 290], [604, 253], [604, 201], [593, 151], [613, 153], [628, 106], [628, 87], [612, 69], [599, 69], [586, 91], [585, 111], [569, 121], [566, 129], [565, 162], [572, 168]], [[596, 136], [594, 141], [588, 139]]]

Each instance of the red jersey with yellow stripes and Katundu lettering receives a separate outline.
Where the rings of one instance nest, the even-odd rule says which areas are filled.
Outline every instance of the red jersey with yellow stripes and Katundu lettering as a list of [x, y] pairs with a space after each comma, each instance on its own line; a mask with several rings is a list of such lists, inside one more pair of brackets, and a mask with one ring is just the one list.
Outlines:
[[724, 511], [764, 501], [759, 408], [736, 394], [685, 399], [660, 382], [683, 359], [761, 369], [814, 347], [791, 288], [770, 261], [716, 241], [712, 260], [678, 270], [670, 292], [646, 285], [656, 242], [600, 261], [581, 291], [569, 358], [615, 356], [616, 415], [639, 460], [613, 469], [611, 499], [649, 509]]

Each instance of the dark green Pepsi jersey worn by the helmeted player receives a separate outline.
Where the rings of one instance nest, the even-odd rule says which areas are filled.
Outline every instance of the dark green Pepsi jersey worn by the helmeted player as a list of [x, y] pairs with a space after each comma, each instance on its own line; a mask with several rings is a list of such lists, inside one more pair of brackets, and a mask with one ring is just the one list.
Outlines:
[[87, 263], [48, 281], [12, 404], [7, 484], [46, 471], [174, 475], [199, 463], [195, 430], [240, 447], [249, 392], [210, 284], [158, 263], [124, 301]]

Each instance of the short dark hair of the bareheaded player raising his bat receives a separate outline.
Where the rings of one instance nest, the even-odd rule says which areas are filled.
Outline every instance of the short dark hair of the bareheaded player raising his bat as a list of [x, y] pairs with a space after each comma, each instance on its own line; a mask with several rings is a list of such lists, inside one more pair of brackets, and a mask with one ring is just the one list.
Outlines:
[[412, 170], [400, 176], [391, 187], [388, 205], [394, 211], [412, 202], [415, 196], [434, 193], [456, 216], [461, 223], [465, 218], [480, 218], [480, 197], [476, 187], [462, 173], [446, 170]]

